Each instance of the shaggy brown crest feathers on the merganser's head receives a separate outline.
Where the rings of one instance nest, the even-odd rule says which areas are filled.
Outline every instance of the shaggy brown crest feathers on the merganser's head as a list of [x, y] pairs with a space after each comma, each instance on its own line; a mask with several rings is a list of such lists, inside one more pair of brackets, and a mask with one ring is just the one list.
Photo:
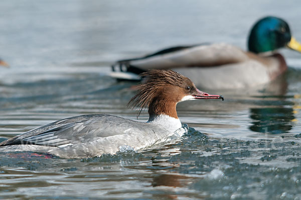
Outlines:
[[148, 108], [156, 97], [165, 90], [167, 84], [181, 87], [186, 82], [191, 82], [189, 78], [172, 70], [149, 70], [141, 73], [139, 76], [144, 78], [141, 84], [137, 86], [137, 94], [128, 102], [128, 106], [131, 108], [141, 108], [137, 117], [143, 109]]

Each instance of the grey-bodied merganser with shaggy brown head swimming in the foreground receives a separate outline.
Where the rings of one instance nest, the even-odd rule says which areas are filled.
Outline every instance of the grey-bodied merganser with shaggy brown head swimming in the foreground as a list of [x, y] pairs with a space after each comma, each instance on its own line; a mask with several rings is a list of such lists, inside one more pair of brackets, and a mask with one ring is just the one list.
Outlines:
[[[222, 99], [196, 88], [187, 77], [171, 70], [151, 70], [144, 77], [132, 107], [148, 107], [146, 123], [107, 114], [70, 117], [30, 130], [0, 143], [0, 151], [47, 152], [62, 158], [86, 158], [116, 153], [130, 147], [138, 150], [181, 137], [187, 132], [176, 105], [193, 99]], [[141, 111], [140, 110], [140, 111]]]

